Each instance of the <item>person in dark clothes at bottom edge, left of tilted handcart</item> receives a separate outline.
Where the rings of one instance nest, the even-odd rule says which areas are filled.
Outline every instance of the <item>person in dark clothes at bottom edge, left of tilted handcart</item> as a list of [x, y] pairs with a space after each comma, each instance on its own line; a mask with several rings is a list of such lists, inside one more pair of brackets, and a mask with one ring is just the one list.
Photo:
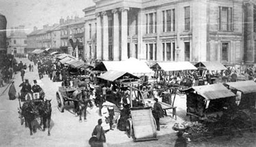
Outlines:
[[102, 128], [102, 119], [98, 120], [98, 125], [94, 128], [94, 131], [91, 133], [92, 137], [96, 137], [95, 142], [89, 142], [91, 146], [103, 147], [103, 143], [106, 142], [105, 131]]

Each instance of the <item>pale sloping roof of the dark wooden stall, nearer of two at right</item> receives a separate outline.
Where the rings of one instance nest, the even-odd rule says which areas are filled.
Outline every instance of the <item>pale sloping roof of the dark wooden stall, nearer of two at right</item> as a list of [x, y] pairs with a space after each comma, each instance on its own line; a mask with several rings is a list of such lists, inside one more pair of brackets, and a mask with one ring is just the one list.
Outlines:
[[234, 93], [229, 91], [229, 89], [223, 86], [223, 84], [193, 86], [191, 88], [188, 88], [186, 91], [189, 91], [191, 89], [196, 91], [199, 95], [207, 100], [236, 96]]

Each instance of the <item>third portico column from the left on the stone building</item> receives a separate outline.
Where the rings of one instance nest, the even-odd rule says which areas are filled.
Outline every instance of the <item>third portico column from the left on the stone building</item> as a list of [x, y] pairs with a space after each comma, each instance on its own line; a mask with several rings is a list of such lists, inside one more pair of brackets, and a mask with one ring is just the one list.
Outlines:
[[117, 9], [112, 10], [113, 13], [113, 59], [119, 61], [119, 14]]

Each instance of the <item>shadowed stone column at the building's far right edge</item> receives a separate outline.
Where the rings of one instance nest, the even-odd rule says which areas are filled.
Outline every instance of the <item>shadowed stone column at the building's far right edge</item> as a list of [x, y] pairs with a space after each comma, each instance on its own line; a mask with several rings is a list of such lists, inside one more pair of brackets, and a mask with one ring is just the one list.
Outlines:
[[254, 39], [253, 39], [253, 3], [248, 2], [246, 5], [246, 63], [254, 63]]

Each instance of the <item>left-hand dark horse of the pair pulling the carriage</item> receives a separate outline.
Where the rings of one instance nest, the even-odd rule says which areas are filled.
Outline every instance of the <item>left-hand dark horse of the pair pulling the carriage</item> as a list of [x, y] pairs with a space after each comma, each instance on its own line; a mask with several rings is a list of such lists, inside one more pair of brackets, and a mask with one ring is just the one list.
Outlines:
[[35, 126], [32, 128], [32, 121], [39, 116], [38, 110], [35, 108], [35, 103], [33, 101], [26, 101], [23, 103], [21, 108], [21, 115], [25, 118], [25, 126], [29, 125], [30, 135], [33, 135], [32, 131], [36, 131]]

